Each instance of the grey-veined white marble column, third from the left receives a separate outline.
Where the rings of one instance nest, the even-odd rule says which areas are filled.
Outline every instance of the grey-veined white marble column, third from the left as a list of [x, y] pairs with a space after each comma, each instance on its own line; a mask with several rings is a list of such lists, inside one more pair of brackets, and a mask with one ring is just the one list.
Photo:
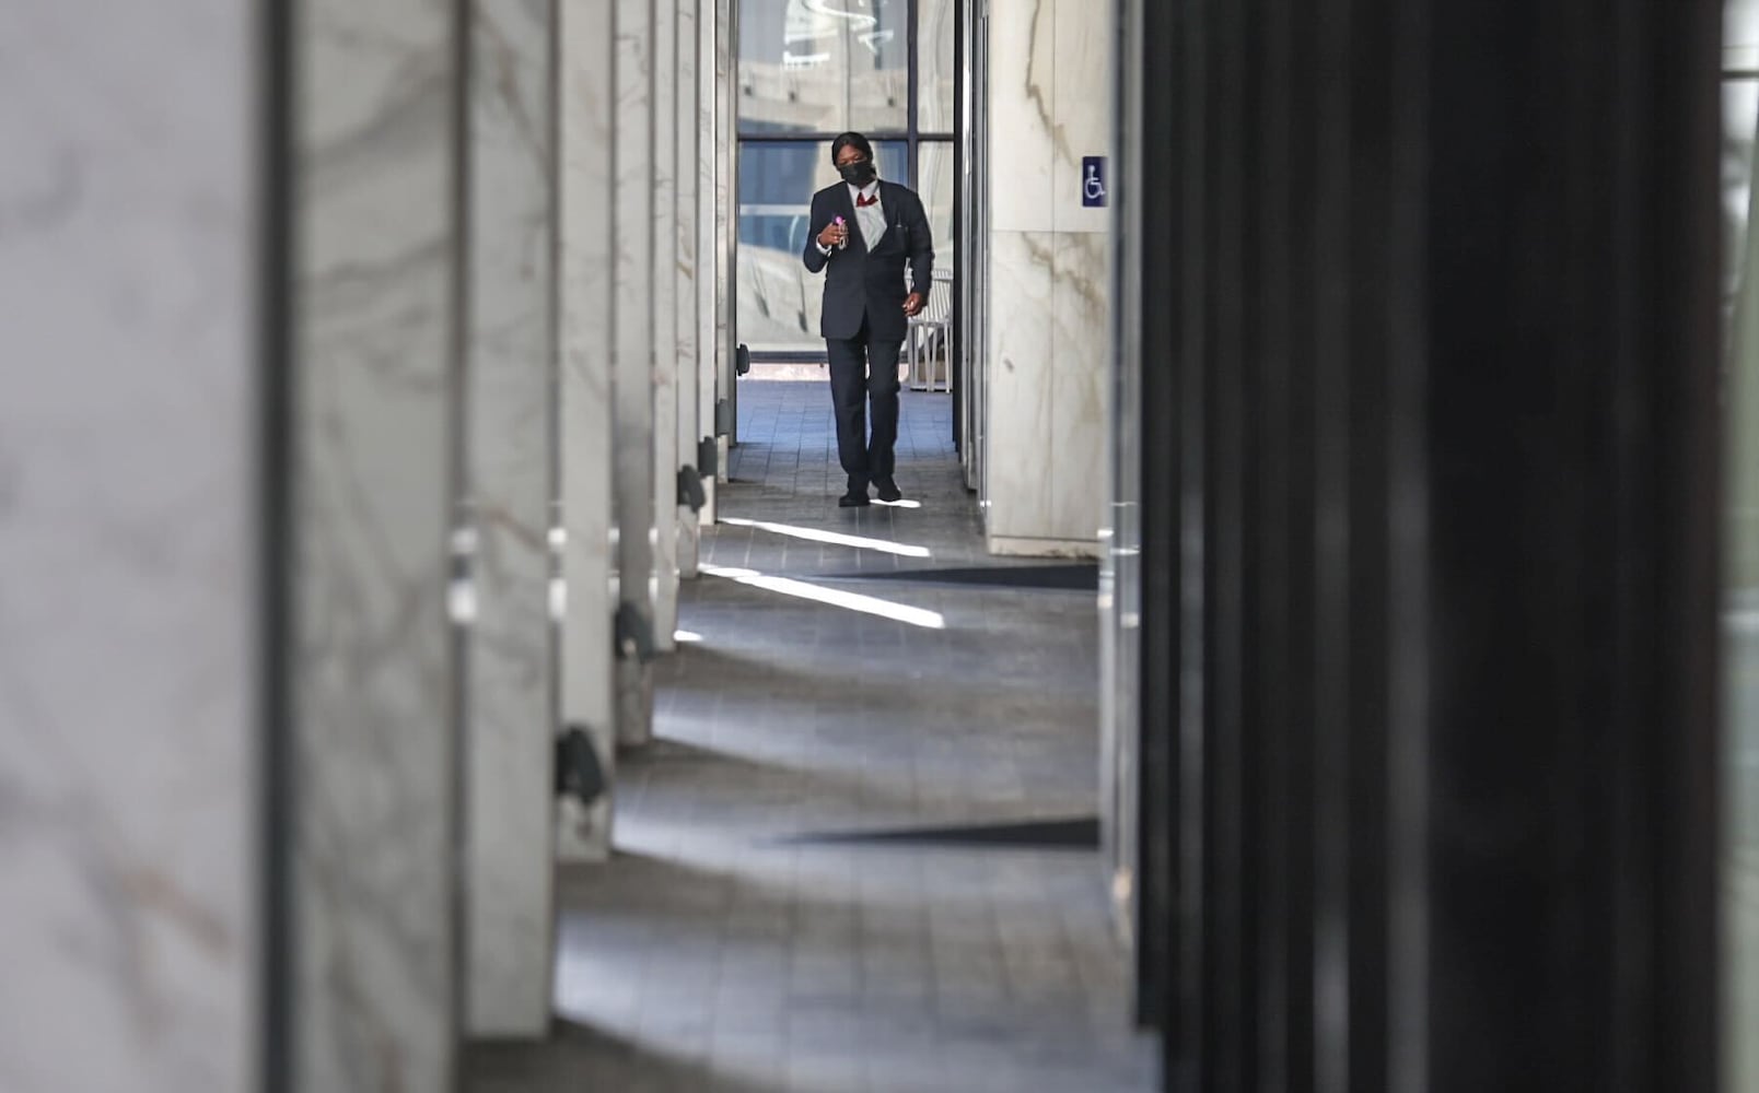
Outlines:
[[554, 937], [552, 0], [471, 0], [464, 511], [466, 1007], [542, 1037]]

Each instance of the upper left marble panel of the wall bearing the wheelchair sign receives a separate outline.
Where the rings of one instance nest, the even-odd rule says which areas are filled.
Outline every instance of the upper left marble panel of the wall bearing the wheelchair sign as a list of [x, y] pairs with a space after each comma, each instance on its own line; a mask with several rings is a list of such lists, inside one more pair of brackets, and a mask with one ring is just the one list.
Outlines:
[[1057, 0], [990, 0], [990, 230], [1048, 232], [1052, 165], [1071, 148], [1055, 118]]

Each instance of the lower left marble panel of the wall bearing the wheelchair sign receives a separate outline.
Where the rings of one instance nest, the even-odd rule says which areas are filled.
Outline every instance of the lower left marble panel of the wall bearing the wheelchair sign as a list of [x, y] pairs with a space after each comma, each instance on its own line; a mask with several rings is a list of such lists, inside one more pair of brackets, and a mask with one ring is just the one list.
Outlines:
[[990, 235], [990, 511], [997, 538], [1043, 534], [1052, 517], [1054, 237], [1045, 232]]

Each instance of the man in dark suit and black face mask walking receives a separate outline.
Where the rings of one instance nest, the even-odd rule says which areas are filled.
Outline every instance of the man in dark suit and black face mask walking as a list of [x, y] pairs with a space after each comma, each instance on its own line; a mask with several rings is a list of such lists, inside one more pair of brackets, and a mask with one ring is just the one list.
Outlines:
[[[929, 300], [934, 242], [922, 199], [880, 181], [874, 149], [860, 134], [830, 144], [843, 181], [813, 195], [811, 235], [800, 258], [825, 274], [820, 334], [830, 353], [830, 401], [837, 413], [837, 455], [850, 476], [843, 508], [869, 504], [872, 483], [881, 501], [904, 494], [892, 478], [897, 443], [897, 355], [908, 318]], [[909, 260], [909, 290], [904, 260]], [[865, 404], [872, 402], [872, 439]]]

